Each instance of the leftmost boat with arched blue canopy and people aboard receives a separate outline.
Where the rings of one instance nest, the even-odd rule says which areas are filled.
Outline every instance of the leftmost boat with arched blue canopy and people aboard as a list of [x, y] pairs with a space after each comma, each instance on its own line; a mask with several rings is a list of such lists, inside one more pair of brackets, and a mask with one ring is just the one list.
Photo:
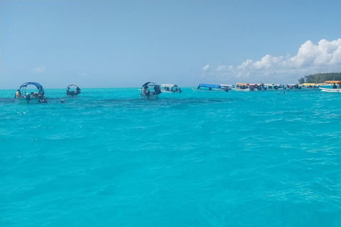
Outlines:
[[[26, 88], [28, 85], [36, 86], [38, 89], [38, 92], [28, 92], [26, 91]], [[22, 96], [22, 94], [24, 94]], [[20, 104], [40, 104], [45, 103], [45, 91], [43, 89], [43, 86], [38, 84], [37, 82], [26, 82], [21, 84], [20, 88], [16, 92], [16, 95], [14, 96], [17, 103]]]

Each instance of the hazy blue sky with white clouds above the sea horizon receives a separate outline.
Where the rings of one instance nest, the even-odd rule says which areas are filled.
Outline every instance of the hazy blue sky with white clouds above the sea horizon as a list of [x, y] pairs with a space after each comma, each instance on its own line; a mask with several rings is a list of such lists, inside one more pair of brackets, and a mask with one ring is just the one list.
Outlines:
[[341, 72], [341, 1], [0, 1], [0, 89]]

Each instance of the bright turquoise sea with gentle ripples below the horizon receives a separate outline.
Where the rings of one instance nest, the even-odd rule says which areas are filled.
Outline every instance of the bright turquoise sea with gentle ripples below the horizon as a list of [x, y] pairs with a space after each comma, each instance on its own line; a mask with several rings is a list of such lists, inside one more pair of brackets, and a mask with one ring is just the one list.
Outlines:
[[341, 94], [15, 92], [0, 226], [341, 226]]

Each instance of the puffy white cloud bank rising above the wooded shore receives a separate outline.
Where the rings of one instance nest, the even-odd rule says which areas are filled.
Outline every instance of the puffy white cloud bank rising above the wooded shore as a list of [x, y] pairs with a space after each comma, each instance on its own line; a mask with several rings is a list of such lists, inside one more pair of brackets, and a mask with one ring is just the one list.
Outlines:
[[296, 56], [274, 57], [265, 55], [261, 60], [246, 60], [238, 66], [206, 65], [203, 77], [217, 77], [229, 82], [297, 82], [297, 79], [319, 72], [341, 72], [341, 38], [320, 40], [314, 45], [308, 40], [298, 49]]

